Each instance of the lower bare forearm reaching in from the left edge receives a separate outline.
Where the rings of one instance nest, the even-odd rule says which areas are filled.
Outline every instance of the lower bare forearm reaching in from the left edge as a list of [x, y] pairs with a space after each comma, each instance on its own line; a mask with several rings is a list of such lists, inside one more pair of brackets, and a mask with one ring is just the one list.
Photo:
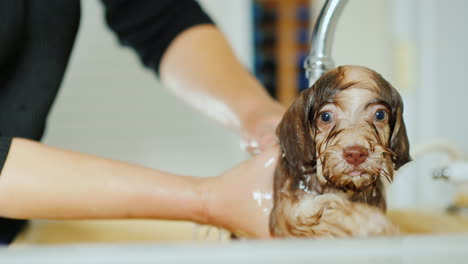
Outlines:
[[15, 138], [0, 175], [0, 216], [203, 223], [200, 182]]

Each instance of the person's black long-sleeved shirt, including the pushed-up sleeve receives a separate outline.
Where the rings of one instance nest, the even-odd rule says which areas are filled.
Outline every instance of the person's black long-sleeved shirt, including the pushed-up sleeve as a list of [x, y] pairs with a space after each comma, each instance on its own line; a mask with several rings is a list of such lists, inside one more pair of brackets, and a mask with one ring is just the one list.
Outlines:
[[[178, 34], [212, 23], [192, 0], [102, 3], [107, 24], [119, 42], [133, 48], [156, 74]], [[79, 0], [0, 1], [0, 170], [13, 137], [41, 139], [79, 21]], [[0, 218], [0, 243], [9, 243], [23, 223]]]

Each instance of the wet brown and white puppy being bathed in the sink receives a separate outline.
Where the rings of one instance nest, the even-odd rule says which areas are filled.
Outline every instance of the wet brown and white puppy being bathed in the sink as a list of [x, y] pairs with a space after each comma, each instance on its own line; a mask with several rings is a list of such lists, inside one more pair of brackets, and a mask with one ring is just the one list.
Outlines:
[[382, 180], [411, 160], [402, 113], [395, 88], [359, 66], [330, 70], [300, 93], [277, 129], [271, 234], [396, 233]]

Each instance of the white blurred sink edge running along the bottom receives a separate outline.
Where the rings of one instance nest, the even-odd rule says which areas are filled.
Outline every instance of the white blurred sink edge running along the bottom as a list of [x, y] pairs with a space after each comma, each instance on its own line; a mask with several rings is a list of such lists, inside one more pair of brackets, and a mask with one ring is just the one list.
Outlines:
[[16, 246], [0, 249], [0, 263], [468, 263], [468, 235]]

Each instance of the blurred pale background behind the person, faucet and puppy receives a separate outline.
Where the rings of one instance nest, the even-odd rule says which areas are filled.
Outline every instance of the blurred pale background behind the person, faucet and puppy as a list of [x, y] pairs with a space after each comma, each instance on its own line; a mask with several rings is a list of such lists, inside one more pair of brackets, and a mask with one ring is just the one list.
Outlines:
[[[200, 3], [272, 95], [288, 104], [307, 88], [302, 61], [323, 1]], [[370, 67], [404, 97], [416, 160], [392, 186], [392, 207], [445, 206], [453, 198], [453, 186], [433, 175], [447, 165], [447, 153], [463, 159], [468, 152], [466, 10], [464, 0], [350, 0], [339, 20], [336, 64]], [[177, 100], [118, 45], [99, 1], [82, 1], [78, 39], [44, 142], [196, 176], [247, 158], [237, 135]]]

